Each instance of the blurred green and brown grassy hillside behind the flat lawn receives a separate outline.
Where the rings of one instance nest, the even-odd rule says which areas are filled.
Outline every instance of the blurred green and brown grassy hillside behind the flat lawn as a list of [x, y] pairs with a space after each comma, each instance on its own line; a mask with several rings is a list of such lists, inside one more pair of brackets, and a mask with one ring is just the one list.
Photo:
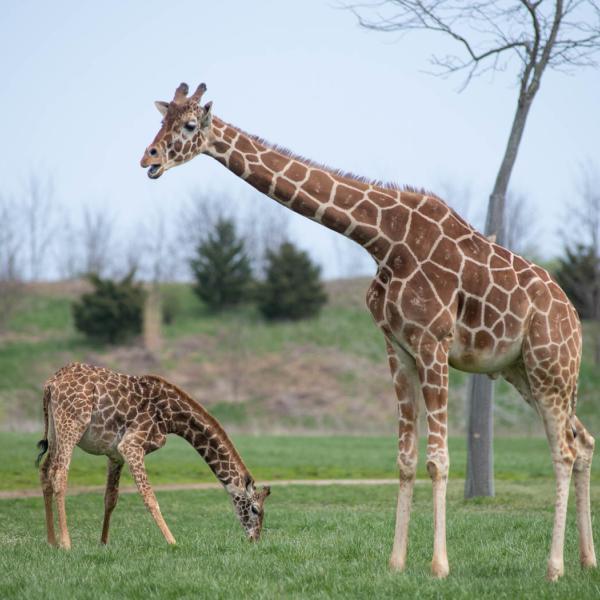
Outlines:
[[[174, 311], [163, 327], [162, 349], [150, 356], [139, 341], [98, 346], [73, 328], [71, 303], [81, 282], [35, 284], [0, 334], [0, 428], [37, 431], [41, 388], [73, 360], [173, 380], [226, 426], [245, 432], [395, 430], [395, 399], [383, 339], [365, 308], [367, 279], [327, 284], [322, 314], [298, 323], [265, 323], [253, 307], [211, 314], [189, 286], [169, 284]], [[589, 357], [589, 358], [588, 358]], [[450, 426], [464, 423], [466, 375], [453, 371]], [[505, 382], [497, 384], [500, 433], [540, 433], [537, 416]], [[586, 352], [578, 413], [598, 430], [600, 374]]]

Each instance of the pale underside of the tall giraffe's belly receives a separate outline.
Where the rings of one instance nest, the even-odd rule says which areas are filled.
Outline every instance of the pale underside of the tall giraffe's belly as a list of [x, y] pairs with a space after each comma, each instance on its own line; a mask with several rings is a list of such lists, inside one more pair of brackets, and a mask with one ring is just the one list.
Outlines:
[[504, 341], [500, 348], [479, 349], [475, 345], [466, 346], [456, 336], [450, 346], [448, 357], [451, 367], [467, 373], [499, 373], [513, 364], [521, 355], [523, 339]]

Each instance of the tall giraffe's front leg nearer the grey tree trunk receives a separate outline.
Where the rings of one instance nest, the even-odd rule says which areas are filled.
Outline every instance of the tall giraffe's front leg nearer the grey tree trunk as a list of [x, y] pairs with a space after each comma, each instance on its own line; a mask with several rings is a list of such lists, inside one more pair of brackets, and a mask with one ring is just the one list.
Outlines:
[[448, 485], [448, 352], [438, 344], [417, 359], [427, 413], [427, 472], [433, 484], [433, 558], [439, 578], [450, 572], [446, 552], [446, 488]]

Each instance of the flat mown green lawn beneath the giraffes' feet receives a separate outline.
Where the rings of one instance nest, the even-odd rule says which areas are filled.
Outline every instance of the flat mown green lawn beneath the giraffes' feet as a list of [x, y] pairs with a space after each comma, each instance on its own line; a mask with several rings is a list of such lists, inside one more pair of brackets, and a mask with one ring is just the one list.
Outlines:
[[[4, 489], [35, 485], [34, 440], [0, 435]], [[200, 458], [179, 441], [148, 457], [151, 481], [211, 480]], [[395, 476], [393, 439], [237, 436], [236, 443], [259, 479]], [[174, 548], [164, 543], [137, 494], [119, 500], [106, 548], [98, 541], [102, 495], [70, 497], [68, 553], [45, 544], [41, 498], [0, 500], [0, 598], [597, 598], [600, 573], [583, 573], [578, 565], [572, 498], [566, 576], [558, 584], [544, 580], [554, 492], [545, 442], [499, 441], [497, 495], [471, 502], [462, 497], [460, 445], [452, 440], [446, 581], [429, 576], [428, 481], [416, 485], [404, 574], [387, 569], [396, 486], [275, 483], [256, 545], [245, 541], [221, 490], [158, 493], [178, 541]], [[71, 475], [71, 484], [101, 483], [104, 461], [78, 453]], [[593, 488], [592, 511], [599, 514], [600, 491]]]

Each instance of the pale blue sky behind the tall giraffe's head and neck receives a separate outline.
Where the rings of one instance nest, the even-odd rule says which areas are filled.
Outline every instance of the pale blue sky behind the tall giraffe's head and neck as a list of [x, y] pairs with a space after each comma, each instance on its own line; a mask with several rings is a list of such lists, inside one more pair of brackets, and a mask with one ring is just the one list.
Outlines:
[[[476, 219], [506, 142], [514, 76], [484, 76], [459, 94], [459, 78], [424, 73], [443, 43], [367, 32], [317, 0], [5, 3], [1, 191], [17, 196], [31, 171], [51, 175], [74, 212], [106, 206], [124, 230], [157, 206], [175, 214], [193, 189], [265, 206], [272, 201], [208, 157], [157, 181], [138, 165], [159, 127], [153, 101], [169, 100], [180, 81], [205, 81], [224, 120], [369, 177], [442, 195], [448, 182], [468, 186], [479, 206], [467, 217]], [[600, 72], [588, 69], [547, 72], [535, 101], [513, 187], [538, 209], [546, 255], [559, 247], [580, 163], [598, 156], [599, 97]], [[301, 217], [290, 232], [327, 276], [348, 271], [336, 234]]]

